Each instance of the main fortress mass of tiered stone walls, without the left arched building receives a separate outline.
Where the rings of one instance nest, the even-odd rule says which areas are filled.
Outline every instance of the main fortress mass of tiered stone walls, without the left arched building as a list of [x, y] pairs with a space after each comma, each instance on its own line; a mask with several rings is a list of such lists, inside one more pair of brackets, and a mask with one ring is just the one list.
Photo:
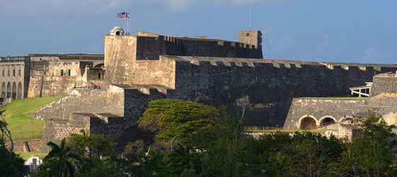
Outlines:
[[[262, 35], [251, 33], [240, 33], [240, 42], [145, 32], [106, 35], [104, 80], [87, 81], [95, 89], [72, 89], [32, 114], [45, 119], [43, 144], [80, 129], [95, 132], [96, 127], [102, 127], [96, 133], [117, 139], [122, 135], [112, 137], [115, 130], [133, 126], [147, 103], [160, 98], [230, 109], [239, 109], [237, 101], [244, 98], [247, 125], [283, 125], [293, 98], [347, 96], [347, 88], [372, 81], [374, 73], [397, 69], [396, 64], [262, 59]], [[115, 123], [91, 124], [106, 118]], [[83, 123], [74, 123], [80, 120]]]

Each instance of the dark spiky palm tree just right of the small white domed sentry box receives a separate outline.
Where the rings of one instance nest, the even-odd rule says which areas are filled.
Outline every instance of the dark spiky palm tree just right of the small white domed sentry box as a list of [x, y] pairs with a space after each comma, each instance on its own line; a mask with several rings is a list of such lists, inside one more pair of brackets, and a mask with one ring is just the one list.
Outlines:
[[74, 173], [72, 160], [76, 161], [79, 157], [72, 153], [70, 147], [65, 145], [65, 138], [62, 139], [60, 146], [53, 142], [48, 142], [47, 145], [52, 149], [44, 160], [50, 162], [56, 176], [72, 176]]

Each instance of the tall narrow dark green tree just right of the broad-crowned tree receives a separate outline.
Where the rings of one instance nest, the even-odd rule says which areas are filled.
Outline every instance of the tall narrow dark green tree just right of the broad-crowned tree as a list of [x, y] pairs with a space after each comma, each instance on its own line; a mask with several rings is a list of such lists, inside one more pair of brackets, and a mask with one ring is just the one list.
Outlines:
[[225, 108], [221, 108], [220, 123], [211, 130], [208, 137], [206, 152], [203, 154], [203, 176], [244, 176], [247, 137], [242, 137], [240, 115], [228, 115]]

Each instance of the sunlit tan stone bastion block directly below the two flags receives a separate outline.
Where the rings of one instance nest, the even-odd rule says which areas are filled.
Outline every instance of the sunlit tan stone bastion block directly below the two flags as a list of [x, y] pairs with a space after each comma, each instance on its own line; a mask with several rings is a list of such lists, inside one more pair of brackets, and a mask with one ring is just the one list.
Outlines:
[[[144, 37], [138, 38], [141, 41]], [[145, 38], [149, 40], [154, 39]], [[129, 42], [132, 43], [129, 47], [121, 47], [121, 43]], [[138, 42], [138, 46], [140, 44]], [[106, 75], [104, 81], [110, 84], [154, 84], [174, 88], [174, 61], [164, 60], [161, 57], [159, 58], [159, 56], [155, 60], [135, 59], [134, 47], [136, 46], [136, 38], [106, 36]], [[142, 57], [149, 56], [149, 54], [150, 52], [137, 52], [136, 55]]]

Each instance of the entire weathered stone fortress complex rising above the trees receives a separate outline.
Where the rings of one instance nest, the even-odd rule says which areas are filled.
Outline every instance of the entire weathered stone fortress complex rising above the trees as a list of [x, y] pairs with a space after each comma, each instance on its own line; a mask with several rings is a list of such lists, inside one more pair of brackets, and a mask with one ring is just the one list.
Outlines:
[[[371, 93], [381, 93], [386, 88], [384, 82], [388, 83], [380, 79], [382, 73], [397, 70], [397, 64], [263, 59], [260, 31], [240, 31], [239, 42], [123, 33], [123, 29], [113, 28], [105, 36], [104, 55], [23, 57], [28, 74], [24, 78], [29, 79], [23, 87], [28, 87], [24, 97], [62, 95], [30, 115], [45, 120], [43, 144], [60, 142], [81, 129], [121, 141], [147, 103], [161, 98], [244, 107], [247, 125], [314, 128], [322, 121], [337, 121], [359, 111], [352, 108], [347, 113], [341, 105], [338, 112], [338, 100], [328, 103], [301, 97], [350, 96], [350, 87], [362, 86], [373, 78]], [[376, 82], [378, 78], [382, 82]], [[397, 92], [396, 85], [387, 88]], [[370, 102], [341, 102], [354, 107], [355, 103], [369, 105], [366, 101]], [[378, 102], [373, 104], [371, 108], [377, 110]], [[335, 114], [331, 113], [333, 108]], [[313, 118], [315, 125], [305, 118]], [[47, 151], [45, 145], [42, 151]]]

